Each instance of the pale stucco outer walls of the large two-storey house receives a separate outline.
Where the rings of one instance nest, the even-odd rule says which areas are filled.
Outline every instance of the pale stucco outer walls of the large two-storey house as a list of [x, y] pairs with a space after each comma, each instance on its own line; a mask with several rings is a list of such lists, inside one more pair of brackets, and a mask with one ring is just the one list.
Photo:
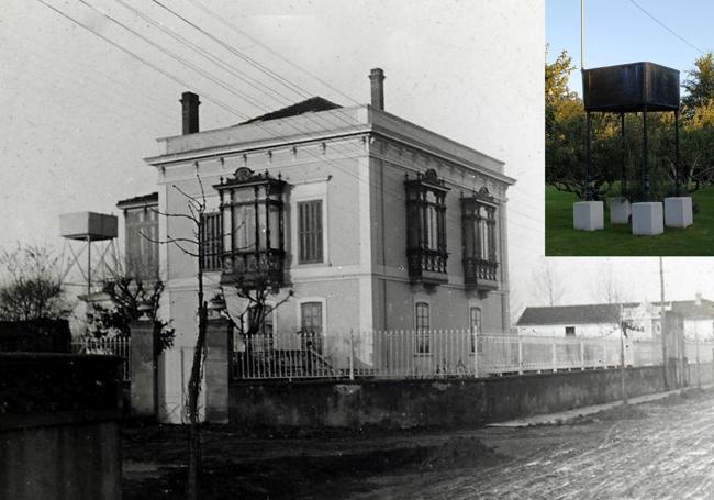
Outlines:
[[[164, 213], [188, 213], [187, 197], [205, 196], [217, 210], [213, 189], [238, 168], [286, 181], [285, 277], [275, 300], [293, 296], [272, 315], [276, 345], [300, 329], [300, 304], [322, 304], [322, 329], [331, 336], [350, 331], [414, 330], [417, 301], [429, 304], [432, 329], [468, 329], [469, 310], [481, 309], [482, 330], [509, 331], [506, 189], [514, 182], [503, 164], [461, 144], [369, 105], [309, 112], [215, 131], [159, 140], [164, 151], [147, 158], [158, 173], [158, 205]], [[404, 181], [427, 170], [448, 188], [445, 282], [415, 282], [406, 259]], [[201, 179], [201, 184], [198, 182]], [[201, 192], [201, 186], [203, 193]], [[465, 284], [461, 203], [464, 196], [488, 192], [497, 205], [497, 282], [489, 290]], [[323, 258], [300, 264], [297, 204], [322, 201]], [[191, 238], [192, 222], [163, 216], [159, 237]], [[175, 347], [166, 353], [159, 377], [161, 420], [181, 420], [188, 381], [186, 363], [197, 330], [196, 257], [176, 245], [159, 249], [166, 284], [161, 313], [176, 327]], [[204, 276], [207, 298], [231, 291], [221, 273]], [[282, 335], [282, 337], [281, 337]], [[345, 343], [325, 348], [339, 351]], [[334, 354], [334, 353], [333, 353]], [[336, 354], [339, 358], [339, 353]]]

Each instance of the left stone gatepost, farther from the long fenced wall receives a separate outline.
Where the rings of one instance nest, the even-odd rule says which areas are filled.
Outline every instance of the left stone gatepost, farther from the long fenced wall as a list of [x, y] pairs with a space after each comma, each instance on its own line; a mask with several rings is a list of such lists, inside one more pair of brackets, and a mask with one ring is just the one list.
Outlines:
[[156, 419], [158, 393], [154, 322], [138, 320], [132, 322], [130, 327], [132, 330], [131, 415]]

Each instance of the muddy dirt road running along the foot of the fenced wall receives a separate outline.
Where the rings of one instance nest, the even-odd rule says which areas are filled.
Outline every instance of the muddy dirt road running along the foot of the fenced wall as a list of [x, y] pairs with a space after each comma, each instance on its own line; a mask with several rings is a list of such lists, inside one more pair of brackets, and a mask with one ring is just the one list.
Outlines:
[[[205, 434], [205, 499], [714, 499], [714, 395], [562, 425]], [[180, 498], [183, 430], [129, 430], [124, 498]]]

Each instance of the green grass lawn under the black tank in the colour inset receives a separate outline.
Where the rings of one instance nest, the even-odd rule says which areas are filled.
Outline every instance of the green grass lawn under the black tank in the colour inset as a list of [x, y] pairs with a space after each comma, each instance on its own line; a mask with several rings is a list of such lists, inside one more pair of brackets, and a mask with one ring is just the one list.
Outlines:
[[685, 230], [665, 227], [657, 236], [633, 236], [629, 224], [610, 225], [605, 203], [605, 229], [572, 229], [574, 195], [546, 186], [546, 255], [560, 256], [709, 256], [714, 255], [714, 187], [692, 195], [699, 212]]

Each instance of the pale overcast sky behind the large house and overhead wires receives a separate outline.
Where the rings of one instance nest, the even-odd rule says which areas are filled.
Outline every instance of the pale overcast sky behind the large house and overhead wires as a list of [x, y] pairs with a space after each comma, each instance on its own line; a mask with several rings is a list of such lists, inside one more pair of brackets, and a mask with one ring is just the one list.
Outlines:
[[[38, 1], [3, 2], [0, 246], [46, 242], [59, 249], [58, 214], [116, 213], [116, 200], [155, 190], [155, 171], [142, 158], [158, 153], [155, 138], [180, 133], [178, 99], [188, 88], [202, 98], [201, 129], [208, 130], [302, 100], [304, 95], [344, 105], [368, 102], [367, 75], [379, 66], [387, 76], [388, 111], [505, 162], [506, 174], [517, 179], [509, 191], [513, 307], [542, 302], [532, 276], [544, 247], [543, 1], [165, 2], [234, 52], [152, 1], [85, 0], [163, 49], [79, 0], [45, 1], [171, 77]], [[122, 2], [227, 62], [228, 70], [191, 52]], [[202, 11], [199, 2], [248, 36]], [[293, 88], [250, 69], [236, 52], [276, 71]], [[259, 80], [263, 91], [232, 71]], [[242, 99], [246, 95], [253, 103]], [[549, 260], [568, 285], [565, 302], [593, 300], [591, 290], [605, 260]], [[628, 282], [634, 298], [659, 297], [656, 259], [614, 263], [615, 274]], [[703, 265], [711, 267], [709, 260]], [[699, 271], [701, 265], [672, 259], [667, 266], [672, 297], [690, 297], [694, 288], [714, 297], [714, 286]]]

